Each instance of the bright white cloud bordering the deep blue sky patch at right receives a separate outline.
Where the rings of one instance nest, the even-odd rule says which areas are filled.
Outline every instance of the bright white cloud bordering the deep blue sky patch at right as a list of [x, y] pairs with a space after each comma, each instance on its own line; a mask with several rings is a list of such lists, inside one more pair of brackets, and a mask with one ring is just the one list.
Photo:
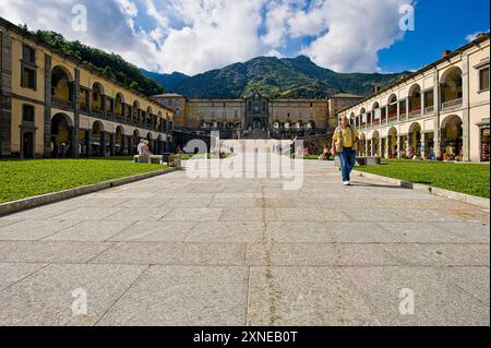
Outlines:
[[378, 71], [378, 52], [404, 36], [399, 5], [407, 0], [326, 0], [327, 32], [303, 52], [323, 67], [343, 72]]

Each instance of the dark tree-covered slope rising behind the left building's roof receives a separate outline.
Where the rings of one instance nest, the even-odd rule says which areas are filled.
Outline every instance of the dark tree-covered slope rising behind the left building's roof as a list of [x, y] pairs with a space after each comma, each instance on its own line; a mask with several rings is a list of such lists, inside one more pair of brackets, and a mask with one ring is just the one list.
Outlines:
[[100, 49], [83, 45], [80, 41], [68, 41], [62, 35], [55, 32], [37, 31], [32, 34], [52, 49], [59, 50], [68, 57], [86, 62], [93, 70], [136, 92], [147, 96], [163, 92], [161, 86], [154, 80], [143, 74], [139, 68], [127, 62], [118, 55], [109, 55]]

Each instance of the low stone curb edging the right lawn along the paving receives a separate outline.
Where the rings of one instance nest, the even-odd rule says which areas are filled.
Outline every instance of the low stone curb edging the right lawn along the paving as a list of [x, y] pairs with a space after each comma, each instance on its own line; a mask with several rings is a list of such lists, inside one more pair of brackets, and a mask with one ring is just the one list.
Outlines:
[[363, 172], [363, 171], [358, 171], [358, 170], [354, 170], [352, 171], [354, 175], [359, 176], [359, 177], [363, 177], [367, 179], [374, 179], [374, 180], [379, 180], [379, 181], [383, 181], [386, 183], [391, 183], [394, 185], [398, 185], [405, 189], [410, 189], [410, 190], [416, 190], [416, 191], [420, 191], [420, 192], [424, 192], [424, 193], [430, 193], [436, 196], [441, 196], [441, 197], [445, 197], [448, 200], [453, 200], [453, 201], [459, 201], [459, 202], [464, 202], [464, 203], [468, 203], [468, 204], [472, 204], [482, 208], [490, 208], [490, 200], [489, 199], [484, 199], [484, 197], [479, 197], [479, 196], [475, 196], [475, 195], [470, 195], [470, 194], [465, 194], [465, 193], [459, 193], [459, 192], [454, 192], [454, 191], [448, 191], [448, 190], [444, 190], [444, 189], [439, 189], [439, 188], [432, 188], [426, 184], [420, 184], [420, 183], [414, 183], [410, 181], [404, 181], [404, 180], [399, 180], [399, 179], [394, 179], [394, 178], [387, 178], [387, 177], [382, 177], [382, 176], [378, 176], [378, 175], [373, 175], [373, 173], [369, 173], [369, 172]]

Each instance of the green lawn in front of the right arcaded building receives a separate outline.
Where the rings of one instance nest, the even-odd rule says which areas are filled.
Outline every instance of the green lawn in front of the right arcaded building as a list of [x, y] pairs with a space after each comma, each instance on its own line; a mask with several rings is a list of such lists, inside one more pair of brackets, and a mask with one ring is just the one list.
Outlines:
[[490, 167], [479, 164], [390, 161], [360, 171], [489, 199]]

